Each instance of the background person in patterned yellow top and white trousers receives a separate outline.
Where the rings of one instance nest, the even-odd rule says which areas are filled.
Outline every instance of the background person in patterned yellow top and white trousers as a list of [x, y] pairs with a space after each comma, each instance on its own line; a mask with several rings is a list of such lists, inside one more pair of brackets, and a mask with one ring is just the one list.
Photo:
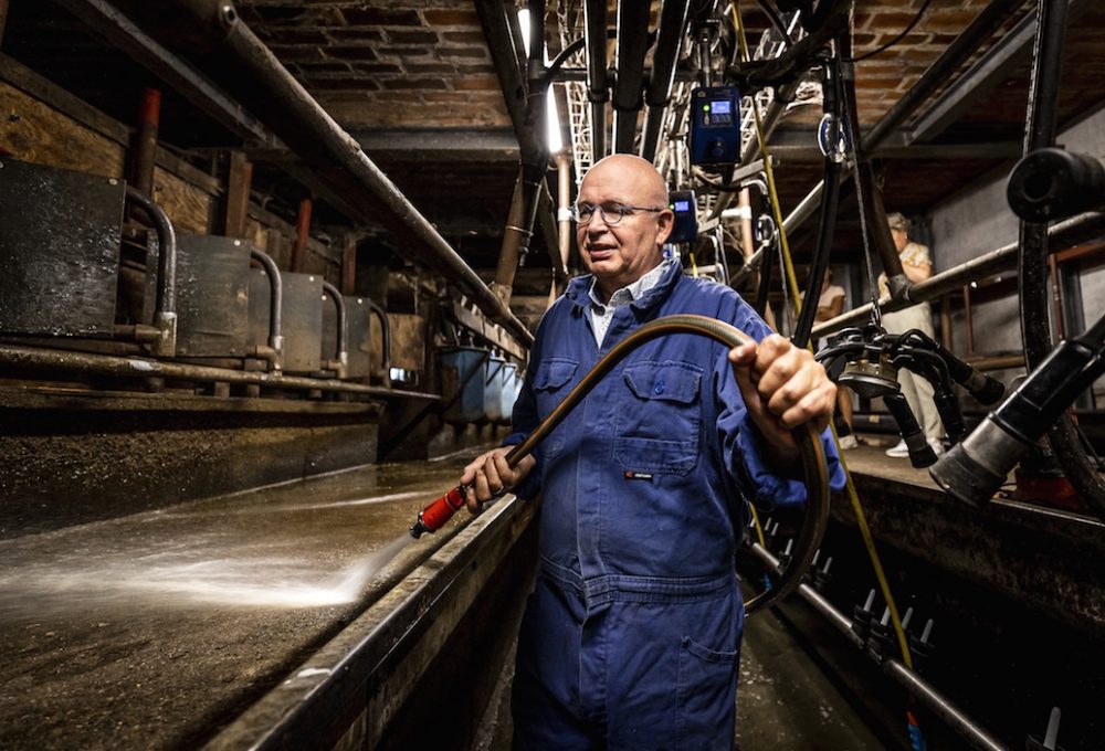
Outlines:
[[[890, 224], [894, 247], [897, 248], [906, 278], [917, 284], [930, 277], [933, 262], [928, 256], [928, 248], [909, 240], [909, 220], [894, 212], [886, 215], [886, 223]], [[890, 294], [885, 272], [878, 275], [878, 294], [882, 296]], [[909, 329], [919, 329], [932, 337], [934, 336], [933, 310], [928, 303], [918, 303], [903, 310], [884, 313], [883, 328], [887, 334], [905, 334]], [[940, 425], [940, 415], [936, 411], [936, 402], [933, 401], [933, 384], [905, 368], [898, 370], [898, 383], [902, 385], [905, 401], [925, 432], [928, 445], [939, 456], [944, 453], [941, 442], [944, 429]], [[906, 457], [909, 456], [909, 448], [905, 445], [905, 441], [898, 441], [897, 445], [886, 449], [886, 455], [896, 458]]]

